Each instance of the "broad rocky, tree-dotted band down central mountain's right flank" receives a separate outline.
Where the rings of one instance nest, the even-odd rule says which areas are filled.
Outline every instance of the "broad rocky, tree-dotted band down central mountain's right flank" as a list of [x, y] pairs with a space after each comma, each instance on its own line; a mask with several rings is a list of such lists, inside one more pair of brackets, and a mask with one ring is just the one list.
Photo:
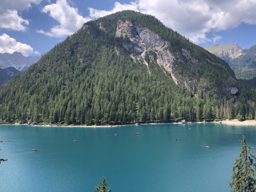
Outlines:
[[[177, 46], [179, 42], [172, 42], [169, 38], [164, 39], [143, 24], [134, 24], [127, 19], [117, 21], [115, 35], [126, 38], [123, 41], [124, 48], [131, 53], [134, 60], [147, 66], [149, 76], [151, 76], [151, 69], [148, 61], [159, 65], [165, 74], [170, 74], [175, 84], [184, 86], [192, 93], [196, 94], [200, 90], [209, 95], [220, 92], [236, 95], [238, 92], [238, 89], [234, 88], [236, 80], [232, 77], [228, 79], [233, 74], [227, 63], [223, 63], [211, 54], [206, 54], [204, 50], [200, 51], [200, 55], [196, 54], [196, 51], [191, 49], [190, 45], [188, 46], [191, 44], [189, 42]], [[118, 53], [117, 49], [116, 52]], [[202, 54], [205, 57], [202, 57]], [[227, 74], [227, 78], [225, 77], [227, 82], [226, 80], [222, 83], [217, 80], [212, 81], [211, 77], [220, 74], [220, 71]], [[205, 75], [207, 73], [209, 74]]]

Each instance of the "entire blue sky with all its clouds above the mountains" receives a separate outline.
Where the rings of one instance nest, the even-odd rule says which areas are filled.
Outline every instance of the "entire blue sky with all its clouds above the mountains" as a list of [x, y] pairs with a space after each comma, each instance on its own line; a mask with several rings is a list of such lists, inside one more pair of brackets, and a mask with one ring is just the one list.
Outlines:
[[0, 52], [42, 54], [84, 22], [122, 10], [154, 15], [200, 46], [256, 45], [255, 0], [1, 0]]

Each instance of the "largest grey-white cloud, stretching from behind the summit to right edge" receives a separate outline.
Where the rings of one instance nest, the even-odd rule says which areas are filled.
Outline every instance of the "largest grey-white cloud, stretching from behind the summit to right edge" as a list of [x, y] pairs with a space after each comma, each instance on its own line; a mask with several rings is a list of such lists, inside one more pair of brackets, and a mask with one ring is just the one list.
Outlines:
[[255, 0], [138, 0], [130, 4], [116, 2], [112, 10], [89, 8], [93, 19], [122, 10], [154, 15], [166, 26], [188, 36], [197, 44], [221, 38], [208, 38], [207, 33], [236, 28], [242, 22], [256, 24]]

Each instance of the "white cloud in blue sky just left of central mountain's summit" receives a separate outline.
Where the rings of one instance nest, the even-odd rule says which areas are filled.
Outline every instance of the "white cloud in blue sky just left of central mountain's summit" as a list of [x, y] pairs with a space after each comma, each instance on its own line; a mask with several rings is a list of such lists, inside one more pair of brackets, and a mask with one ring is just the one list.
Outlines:
[[51, 31], [42, 29], [37, 31], [47, 36], [63, 37], [72, 35], [74, 31], [83, 26], [84, 22], [90, 20], [88, 17], [81, 16], [77, 8], [70, 6], [67, 0], [57, 0], [55, 4], [48, 4], [42, 12], [49, 13], [54, 20], [60, 23], [60, 25], [52, 27]]

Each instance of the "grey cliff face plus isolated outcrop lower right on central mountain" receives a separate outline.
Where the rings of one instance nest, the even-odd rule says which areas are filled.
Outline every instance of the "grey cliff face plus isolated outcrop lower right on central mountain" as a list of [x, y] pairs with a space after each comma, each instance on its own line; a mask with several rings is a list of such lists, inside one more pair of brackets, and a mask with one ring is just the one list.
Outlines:
[[[186, 47], [180, 47], [179, 50], [173, 49], [168, 40], [164, 40], [144, 26], [134, 25], [129, 20], [118, 20], [116, 36], [129, 39], [129, 42], [124, 42], [124, 48], [131, 52], [132, 58], [143, 61], [149, 75], [147, 56], [150, 61], [157, 63], [165, 73], [170, 74], [175, 84], [182, 85], [193, 93], [197, 93], [198, 90], [202, 90], [204, 93], [211, 91], [211, 80], [207, 77], [200, 77], [200, 72], [195, 76], [191, 75], [195, 73], [193, 72], [195, 68], [200, 68], [202, 65], [216, 65], [211, 56], [198, 58], [193, 55], [193, 51]], [[180, 68], [184, 68], [184, 70], [180, 70]], [[231, 95], [236, 95], [238, 92], [237, 87], [232, 84], [223, 83], [220, 87]]]

